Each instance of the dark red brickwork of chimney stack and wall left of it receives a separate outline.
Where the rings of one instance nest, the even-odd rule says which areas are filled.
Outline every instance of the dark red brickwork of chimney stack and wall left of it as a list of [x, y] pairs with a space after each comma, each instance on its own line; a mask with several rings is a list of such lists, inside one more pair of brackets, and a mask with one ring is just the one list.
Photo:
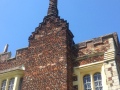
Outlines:
[[16, 58], [2, 63], [0, 70], [23, 64], [22, 90], [72, 90], [72, 38], [66, 21], [45, 17], [30, 36], [29, 47], [18, 50]]

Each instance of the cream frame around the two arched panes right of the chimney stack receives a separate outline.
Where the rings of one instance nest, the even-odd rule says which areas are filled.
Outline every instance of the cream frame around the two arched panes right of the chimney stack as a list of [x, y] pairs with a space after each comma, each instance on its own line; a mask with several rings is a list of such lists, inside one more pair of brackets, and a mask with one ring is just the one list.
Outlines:
[[78, 80], [74, 81], [73, 85], [78, 85], [78, 90], [84, 90], [83, 77], [84, 75], [89, 74], [91, 76], [92, 90], [95, 90], [93, 75], [97, 72], [100, 72], [102, 78], [103, 90], [108, 90], [108, 85], [106, 83], [106, 75], [104, 70], [105, 70], [104, 61], [81, 65], [79, 67], [74, 67], [73, 75], [77, 75]]

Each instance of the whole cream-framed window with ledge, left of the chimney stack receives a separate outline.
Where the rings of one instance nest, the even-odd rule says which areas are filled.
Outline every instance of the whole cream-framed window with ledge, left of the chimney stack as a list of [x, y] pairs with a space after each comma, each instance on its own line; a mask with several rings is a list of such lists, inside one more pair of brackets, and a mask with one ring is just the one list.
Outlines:
[[18, 66], [0, 71], [0, 90], [21, 90], [25, 67]]

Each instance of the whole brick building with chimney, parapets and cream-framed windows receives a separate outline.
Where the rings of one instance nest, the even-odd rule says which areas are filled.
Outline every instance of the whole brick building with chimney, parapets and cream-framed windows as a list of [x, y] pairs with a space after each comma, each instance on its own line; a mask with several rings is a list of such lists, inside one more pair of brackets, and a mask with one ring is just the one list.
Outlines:
[[117, 33], [78, 44], [69, 24], [50, 0], [47, 16], [29, 46], [0, 54], [1, 90], [120, 90]]

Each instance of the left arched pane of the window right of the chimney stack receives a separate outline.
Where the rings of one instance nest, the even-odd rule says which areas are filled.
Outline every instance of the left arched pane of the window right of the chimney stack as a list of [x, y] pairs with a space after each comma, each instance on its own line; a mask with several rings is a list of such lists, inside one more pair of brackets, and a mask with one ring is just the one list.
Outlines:
[[84, 90], [91, 90], [91, 79], [90, 75], [85, 75], [83, 77]]

